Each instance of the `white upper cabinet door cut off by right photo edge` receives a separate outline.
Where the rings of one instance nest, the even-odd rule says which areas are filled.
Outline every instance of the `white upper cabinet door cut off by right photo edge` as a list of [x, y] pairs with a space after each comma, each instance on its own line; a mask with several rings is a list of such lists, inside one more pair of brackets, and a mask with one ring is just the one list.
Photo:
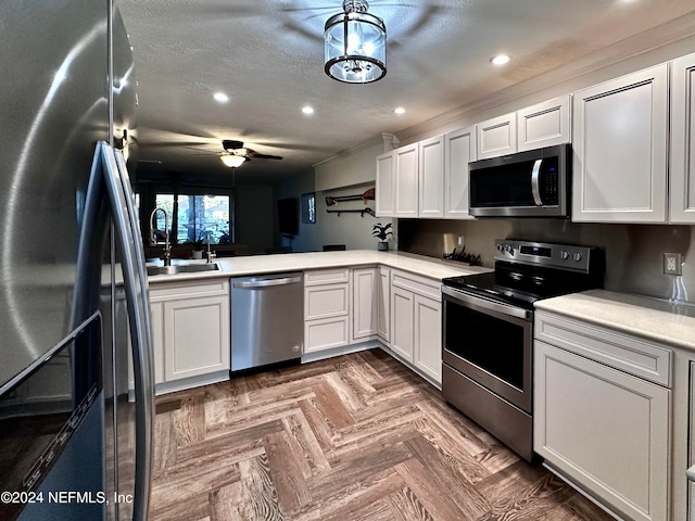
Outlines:
[[695, 54], [671, 63], [671, 223], [695, 224]]

